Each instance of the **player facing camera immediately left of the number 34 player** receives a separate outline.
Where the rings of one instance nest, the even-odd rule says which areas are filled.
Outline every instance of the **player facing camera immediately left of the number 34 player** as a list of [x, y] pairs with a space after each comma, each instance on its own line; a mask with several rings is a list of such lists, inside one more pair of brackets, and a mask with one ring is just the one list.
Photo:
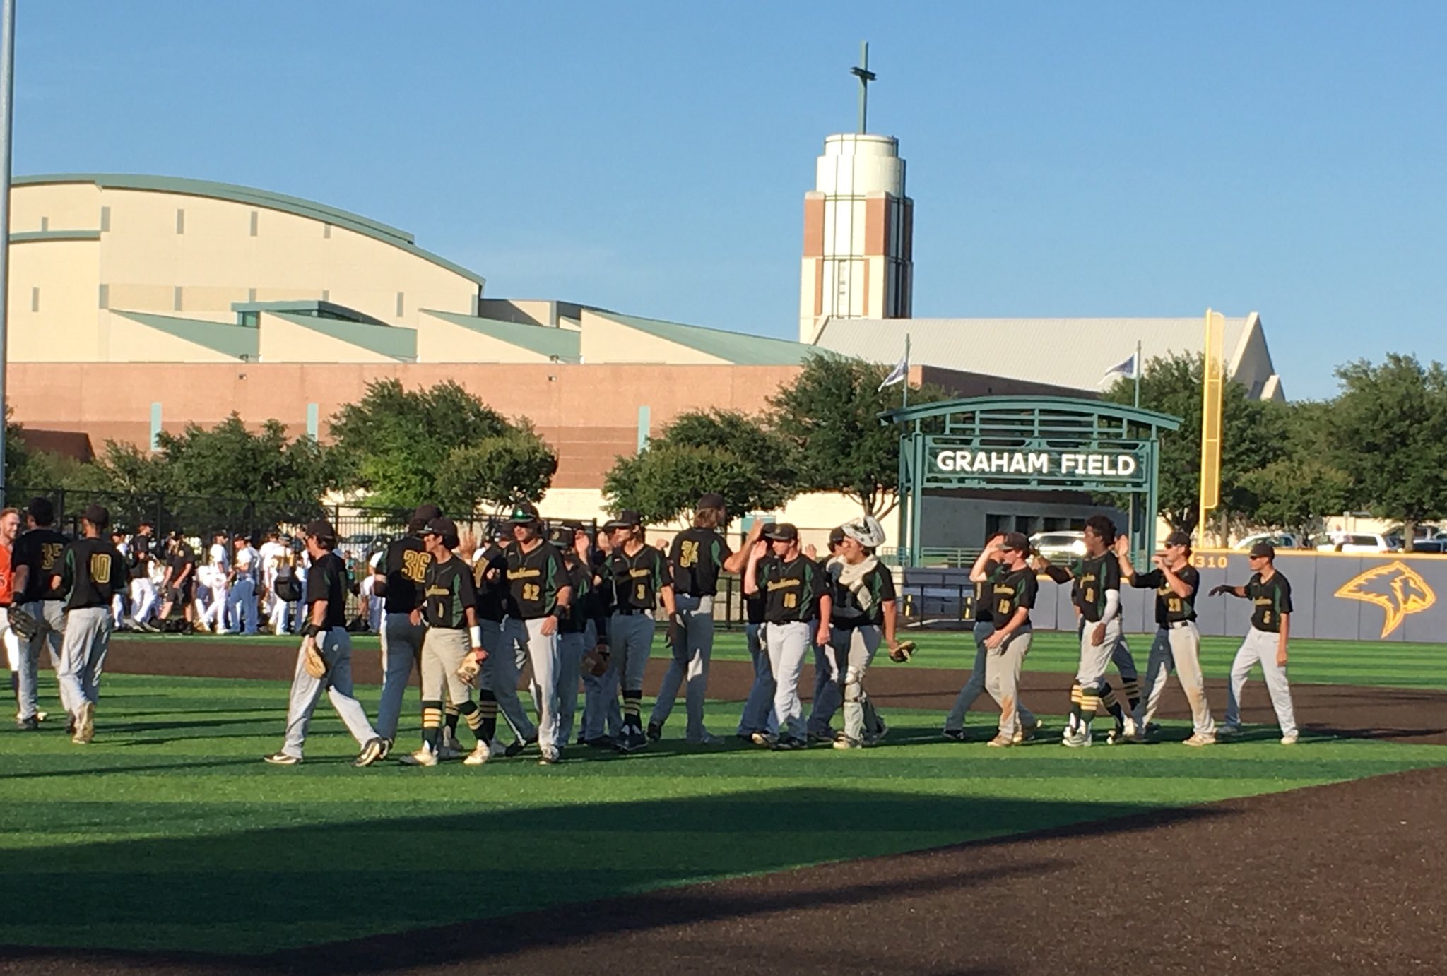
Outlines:
[[663, 552], [644, 542], [640, 515], [629, 510], [619, 512], [618, 518], [603, 523], [603, 531], [614, 536], [614, 551], [608, 557], [608, 575], [614, 586], [614, 616], [608, 625], [608, 646], [624, 693], [624, 727], [616, 746], [621, 752], [635, 752], [648, 745], [640, 711], [642, 675], [653, 649], [654, 612], [663, 600], [671, 643], [677, 636], [674, 622], [677, 604]]

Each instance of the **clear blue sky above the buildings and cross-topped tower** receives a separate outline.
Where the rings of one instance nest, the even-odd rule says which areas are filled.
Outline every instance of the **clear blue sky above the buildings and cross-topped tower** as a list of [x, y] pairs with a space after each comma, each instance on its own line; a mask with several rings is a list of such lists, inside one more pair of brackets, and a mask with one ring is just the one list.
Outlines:
[[1255, 309], [1292, 398], [1447, 359], [1441, 3], [19, 3], [17, 174], [265, 187], [489, 295], [783, 337], [867, 38], [916, 315]]

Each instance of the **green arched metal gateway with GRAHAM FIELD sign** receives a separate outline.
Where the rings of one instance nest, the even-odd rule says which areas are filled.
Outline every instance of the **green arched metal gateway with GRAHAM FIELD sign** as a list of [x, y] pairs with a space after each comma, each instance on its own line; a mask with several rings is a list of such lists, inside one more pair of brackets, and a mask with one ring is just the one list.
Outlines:
[[974, 396], [881, 414], [900, 424], [900, 557], [920, 551], [929, 489], [1088, 492], [1129, 497], [1132, 548], [1155, 549], [1160, 431], [1181, 419], [1066, 396]]

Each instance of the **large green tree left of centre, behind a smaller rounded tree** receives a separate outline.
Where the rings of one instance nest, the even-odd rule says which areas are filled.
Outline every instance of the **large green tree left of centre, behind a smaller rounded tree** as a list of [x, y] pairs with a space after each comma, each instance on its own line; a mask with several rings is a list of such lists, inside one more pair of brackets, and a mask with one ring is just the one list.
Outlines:
[[328, 427], [341, 486], [398, 509], [437, 497], [441, 463], [456, 448], [514, 429], [457, 383], [407, 390], [398, 379], [368, 383], [362, 401], [337, 411]]

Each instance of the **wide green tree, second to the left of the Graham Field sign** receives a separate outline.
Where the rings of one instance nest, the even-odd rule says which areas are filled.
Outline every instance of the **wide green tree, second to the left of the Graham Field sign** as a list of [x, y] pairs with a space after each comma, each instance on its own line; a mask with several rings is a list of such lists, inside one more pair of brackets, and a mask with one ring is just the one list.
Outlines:
[[758, 418], [739, 411], [680, 414], [648, 447], [619, 457], [603, 480], [611, 508], [648, 522], [671, 522], [699, 496], [718, 492], [734, 515], [771, 510], [794, 495], [790, 448]]

